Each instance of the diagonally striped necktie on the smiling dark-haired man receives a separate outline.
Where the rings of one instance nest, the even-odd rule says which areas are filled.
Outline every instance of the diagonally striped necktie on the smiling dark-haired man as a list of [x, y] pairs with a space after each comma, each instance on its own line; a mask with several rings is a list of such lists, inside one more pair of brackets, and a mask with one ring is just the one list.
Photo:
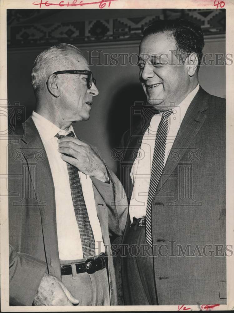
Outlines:
[[167, 132], [169, 124], [169, 116], [172, 114], [172, 110], [162, 113], [161, 121], [158, 125], [154, 154], [152, 160], [152, 168], [150, 175], [149, 193], [146, 207], [146, 241], [152, 247], [152, 225], [151, 225], [151, 207], [152, 201], [155, 196], [159, 180], [162, 176], [164, 167]]

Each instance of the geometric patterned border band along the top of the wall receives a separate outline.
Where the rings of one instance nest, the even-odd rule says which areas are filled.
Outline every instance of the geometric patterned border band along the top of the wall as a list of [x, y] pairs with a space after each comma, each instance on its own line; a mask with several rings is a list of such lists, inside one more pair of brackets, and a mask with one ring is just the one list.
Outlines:
[[[21, 16], [19, 11], [24, 11], [24, 15]], [[138, 40], [142, 38], [144, 28], [157, 19], [187, 18], [200, 25], [205, 35], [215, 35], [225, 33], [226, 21], [224, 9], [163, 9], [158, 15], [135, 18], [106, 18], [67, 23], [23, 23], [24, 19], [28, 21], [28, 18], [33, 18], [39, 12], [40, 10], [7, 10], [8, 47], [47, 46], [60, 42], [88, 44]]]

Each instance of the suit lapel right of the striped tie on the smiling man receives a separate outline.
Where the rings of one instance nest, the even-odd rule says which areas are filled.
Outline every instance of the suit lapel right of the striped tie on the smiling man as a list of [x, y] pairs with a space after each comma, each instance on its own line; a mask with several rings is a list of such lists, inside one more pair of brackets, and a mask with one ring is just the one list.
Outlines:
[[168, 155], [167, 162], [158, 183], [156, 195], [173, 173], [186, 149], [190, 146], [193, 138], [202, 127], [206, 119], [205, 111], [208, 107], [208, 96], [207, 92], [205, 92], [202, 87], [199, 87], [197, 95], [195, 95], [187, 109], [172, 149]]

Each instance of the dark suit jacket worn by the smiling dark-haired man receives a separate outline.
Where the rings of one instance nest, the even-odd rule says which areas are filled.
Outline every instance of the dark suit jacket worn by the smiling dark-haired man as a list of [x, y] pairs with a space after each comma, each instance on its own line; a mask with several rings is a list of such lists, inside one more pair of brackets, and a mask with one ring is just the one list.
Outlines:
[[[144, 131], [139, 123], [132, 135], [127, 131], [122, 137], [118, 173], [128, 199], [132, 194], [129, 173]], [[159, 305], [226, 303], [225, 134], [225, 99], [200, 87], [152, 203], [152, 236], [157, 245], [152, 275]], [[129, 226], [128, 215], [126, 229]], [[122, 264], [123, 284], [125, 280]]]

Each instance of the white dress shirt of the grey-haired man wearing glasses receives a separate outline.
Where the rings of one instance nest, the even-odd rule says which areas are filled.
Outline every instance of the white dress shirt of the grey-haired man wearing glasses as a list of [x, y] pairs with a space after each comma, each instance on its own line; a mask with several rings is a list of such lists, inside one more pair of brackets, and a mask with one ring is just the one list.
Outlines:
[[[68, 131], [61, 130], [34, 111], [32, 112], [32, 120], [42, 139], [52, 172], [55, 191], [59, 259], [83, 259], [82, 244], [72, 202], [67, 164], [60, 157], [61, 153], [58, 152], [58, 139], [55, 137], [57, 133], [66, 136], [70, 131], [74, 132], [73, 127], [70, 126]], [[80, 171], [79, 176], [90, 225], [95, 239], [96, 254], [98, 255], [101, 252], [105, 252], [105, 247], [97, 217], [92, 180], [88, 175]]]

